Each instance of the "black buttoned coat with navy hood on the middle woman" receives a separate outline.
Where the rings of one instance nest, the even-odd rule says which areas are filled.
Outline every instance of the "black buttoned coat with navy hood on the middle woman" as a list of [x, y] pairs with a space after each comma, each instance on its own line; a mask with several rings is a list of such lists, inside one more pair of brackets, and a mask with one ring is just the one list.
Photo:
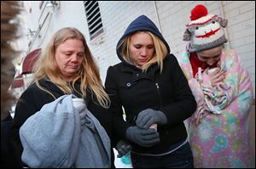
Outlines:
[[[146, 16], [139, 17], [138, 20], [132, 22], [119, 42], [135, 31], [151, 31], [160, 37], [170, 52], [167, 42], [154, 23]], [[114, 130], [121, 138], [126, 139], [126, 129], [136, 125], [138, 113], [148, 108], [161, 110], [167, 117], [167, 124], [158, 127], [160, 144], [150, 148], [131, 144], [133, 149], [139, 153], [166, 153], [173, 144], [187, 138], [183, 121], [189, 118], [196, 109], [195, 98], [188, 81], [173, 54], [168, 54], [164, 59], [162, 73], [156, 64], [151, 65], [147, 72], [143, 72], [127, 63], [119, 54], [119, 43], [117, 54], [121, 63], [108, 68], [105, 81], [106, 90], [111, 98], [111, 110], [114, 113]], [[126, 122], [123, 121], [122, 106], [125, 110]]]

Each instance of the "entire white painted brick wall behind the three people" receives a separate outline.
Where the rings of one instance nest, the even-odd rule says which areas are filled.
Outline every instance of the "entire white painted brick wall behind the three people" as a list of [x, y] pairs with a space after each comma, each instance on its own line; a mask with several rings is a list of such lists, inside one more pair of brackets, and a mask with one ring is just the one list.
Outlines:
[[[39, 3], [25, 4], [32, 8], [32, 13], [28, 14], [28, 20], [30, 20], [28, 27], [32, 30], [38, 29], [38, 17], [42, 12], [42, 9], [39, 9]], [[160, 25], [160, 30], [169, 43], [172, 54], [179, 57], [186, 43], [182, 39], [186, 29], [185, 24], [189, 23], [190, 10], [196, 4], [202, 3], [207, 5], [209, 13], [218, 14], [229, 20], [226, 32], [230, 48], [236, 49], [241, 56], [242, 64], [250, 73], [255, 95], [254, 1], [98, 1], [98, 3], [104, 29], [101, 35], [90, 40], [82, 1], [60, 1], [60, 8], [55, 8], [55, 13], [51, 14], [45, 22], [39, 32], [41, 37], [37, 38], [31, 50], [44, 47], [53, 33], [62, 27], [76, 27], [84, 33], [104, 82], [108, 66], [119, 63], [115, 51], [116, 44], [132, 20], [145, 14], [156, 25]]]

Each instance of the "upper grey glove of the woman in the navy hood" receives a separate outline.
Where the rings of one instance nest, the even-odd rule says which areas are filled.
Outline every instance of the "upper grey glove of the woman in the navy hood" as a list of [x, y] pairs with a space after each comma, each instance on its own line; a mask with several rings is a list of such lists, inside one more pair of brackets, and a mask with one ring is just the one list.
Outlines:
[[137, 115], [137, 127], [148, 129], [153, 123], [165, 125], [167, 123], [166, 115], [160, 110], [152, 109], [142, 110]]

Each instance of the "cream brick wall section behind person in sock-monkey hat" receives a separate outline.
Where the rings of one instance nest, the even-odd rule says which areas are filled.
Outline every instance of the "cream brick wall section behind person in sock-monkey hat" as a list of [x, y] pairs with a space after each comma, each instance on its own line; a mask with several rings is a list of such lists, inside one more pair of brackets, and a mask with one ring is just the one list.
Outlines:
[[240, 55], [242, 64], [249, 72], [255, 98], [255, 2], [156, 2], [162, 33], [176, 57], [179, 57], [186, 43], [182, 39], [185, 24], [189, 23], [190, 10], [198, 3], [206, 5], [208, 13], [218, 14], [229, 20], [226, 28], [228, 45]]

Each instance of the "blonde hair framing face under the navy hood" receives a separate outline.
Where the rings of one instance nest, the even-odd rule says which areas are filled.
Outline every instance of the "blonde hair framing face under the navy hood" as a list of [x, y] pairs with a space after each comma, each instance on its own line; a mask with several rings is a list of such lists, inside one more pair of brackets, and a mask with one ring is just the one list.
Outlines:
[[[168, 50], [166, 48], [166, 44], [160, 40], [159, 37], [155, 36], [150, 31], [137, 31], [137, 32], [145, 32], [148, 33], [150, 37], [152, 37], [154, 42], [154, 55], [151, 59], [148, 60], [146, 64], [142, 66], [142, 70], [145, 72], [148, 70], [150, 65], [157, 63], [160, 66], [160, 72], [163, 70], [163, 60], [166, 58], [168, 54]], [[135, 32], [135, 33], [137, 33]], [[130, 54], [130, 44], [131, 44], [131, 36], [135, 33], [125, 37], [119, 44], [120, 51], [119, 53], [124, 57], [125, 61], [132, 64], [131, 54]]]

